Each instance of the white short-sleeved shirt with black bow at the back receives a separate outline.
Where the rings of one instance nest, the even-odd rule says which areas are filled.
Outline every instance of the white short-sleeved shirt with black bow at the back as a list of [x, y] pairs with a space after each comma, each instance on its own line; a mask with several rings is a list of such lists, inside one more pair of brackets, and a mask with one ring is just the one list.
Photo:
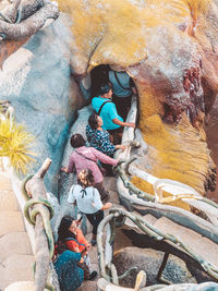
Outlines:
[[96, 187], [83, 189], [81, 185], [72, 185], [68, 202], [76, 201], [78, 210], [84, 214], [95, 214], [102, 208], [99, 192]]

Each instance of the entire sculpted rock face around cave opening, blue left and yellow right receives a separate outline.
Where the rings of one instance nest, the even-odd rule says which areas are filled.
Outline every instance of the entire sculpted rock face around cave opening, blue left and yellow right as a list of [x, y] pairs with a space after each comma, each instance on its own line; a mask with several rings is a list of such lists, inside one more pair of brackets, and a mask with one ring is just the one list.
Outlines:
[[[218, 92], [217, 1], [58, 2], [69, 20], [57, 21], [23, 46], [28, 58], [23, 62], [21, 54], [16, 58], [21, 70], [10, 71], [4, 63], [0, 88], [1, 98], [19, 108], [17, 120], [26, 120], [37, 135], [39, 160], [46, 156], [55, 160], [47, 178], [53, 183], [49, 190], [57, 190], [72, 108], [82, 100], [69, 64], [81, 78], [99, 64], [125, 70], [138, 90], [148, 171], [185, 182], [203, 194], [214, 190], [215, 165], [207, 150], [204, 117]], [[2, 44], [3, 54], [19, 46]]]

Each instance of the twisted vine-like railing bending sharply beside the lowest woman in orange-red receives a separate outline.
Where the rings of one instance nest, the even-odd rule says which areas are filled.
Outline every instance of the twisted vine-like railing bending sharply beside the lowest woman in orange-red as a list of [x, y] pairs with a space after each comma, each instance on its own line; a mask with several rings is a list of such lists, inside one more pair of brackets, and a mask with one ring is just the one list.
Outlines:
[[[184, 254], [187, 254], [190, 257], [194, 259], [201, 266], [201, 268], [208, 274], [211, 278], [218, 280], [218, 268], [213, 265], [211, 263], [205, 260], [203, 257], [197, 255], [191, 247], [189, 247], [185, 243], [183, 243], [182, 240], [179, 238], [167, 234], [159, 229], [155, 228], [153, 225], [148, 223], [142, 216], [129, 213], [121, 208], [113, 208], [109, 211], [109, 215], [101, 220], [101, 222], [98, 226], [98, 232], [97, 232], [97, 246], [98, 246], [98, 255], [99, 255], [99, 270], [100, 270], [100, 277], [104, 278], [108, 282], [112, 282], [116, 286], [119, 286], [119, 280], [125, 278], [132, 270], [135, 269], [135, 267], [130, 268], [126, 270], [123, 275], [118, 276], [116, 266], [108, 262], [106, 264], [105, 257], [107, 254], [105, 253], [106, 247], [104, 247], [104, 232], [105, 228], [112, 225], [116, 227], [122, 227], [123, 225], [126, 225], [126, 219], [130, 219], [133, 223], [135, 223], [135, 227], [141, 230], [141, 233], [144, 233], [148, 235], [150, 239], [155, 241], [161, 241], [167, 242], [170, 245], [173, 245], [173, 247], [182, 251]], [[110, 229], [111, 238], [110, 239], [110, 246], [112, 252], [113, 250], [113, 241], [116, 238], [116, 228]], [[107, 242], [106, 242], [107, 243]], [[108, 250], [107, 250], [108, 252]]]

